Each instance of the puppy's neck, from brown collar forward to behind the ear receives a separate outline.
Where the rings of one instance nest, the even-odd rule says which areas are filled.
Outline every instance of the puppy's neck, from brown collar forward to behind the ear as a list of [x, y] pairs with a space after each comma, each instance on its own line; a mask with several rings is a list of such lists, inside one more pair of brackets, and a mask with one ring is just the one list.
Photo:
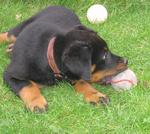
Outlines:
[[[74, 76], [68, 68], [65, 66], [65, 64], [62, 61], [62, 55], [64, 53], [64, 50], [69, 46], [70, 44], [66, 44], [66, 42], [61, 37], [53, 37], [49, 41], [48, 44], [48, 50], [47, 50], [47, 58], [48, 58], [48, 64], [50, 68], [52, 69], [54, 74], [57, 78], [60, 78], [60, 75], [63, 76], [63, 78], [68, 79], [76, 79], [76, 76]], [[51, 60], [52, 59], [52, 60]], [[55, 67], [53, 67], [55, 66]], [[61, 77], [62, 78], [62, 77]]]

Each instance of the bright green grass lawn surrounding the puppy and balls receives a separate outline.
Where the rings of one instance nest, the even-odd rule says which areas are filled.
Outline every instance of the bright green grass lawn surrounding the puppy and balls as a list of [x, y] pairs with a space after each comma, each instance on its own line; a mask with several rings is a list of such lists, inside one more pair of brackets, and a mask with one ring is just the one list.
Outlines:
[[[100, 0], [98, 0], [100, 2]], [[0, 45], [0, 133], [68, 134], [149, 134], [150, 133], [150, 2], [149, 0], [101, 0], [109, 12], [102, 25], [86, 19], [88, 7], [96, 0], [0, 0], [0, 31], [5, 31], [48, 5], [73, 9], [83, 24], [96, 30], [110, 49], [128, 57], [136, 73], [138, 86], [118, 92], [112, 87], [94, 85], [111, 98], [107, 106], [92, 106], [67, 83], [47, 87], [42, 94], [49, 110], [35, 114], [3, 83], [3, 72], [10, 62]], [[16, 14], [21, 14], [16, 20]]]

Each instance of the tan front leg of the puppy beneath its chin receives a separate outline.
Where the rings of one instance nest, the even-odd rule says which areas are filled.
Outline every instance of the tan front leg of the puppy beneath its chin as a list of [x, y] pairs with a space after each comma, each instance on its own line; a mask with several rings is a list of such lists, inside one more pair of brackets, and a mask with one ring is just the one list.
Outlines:
[[77, 81], [74, 87], [78, 93], [84, 95], [84, 98], [87, 102], [93, 104], [107, 104], [109, 102], [109, 98], [105, 94], [100, 93], [84, 80]]

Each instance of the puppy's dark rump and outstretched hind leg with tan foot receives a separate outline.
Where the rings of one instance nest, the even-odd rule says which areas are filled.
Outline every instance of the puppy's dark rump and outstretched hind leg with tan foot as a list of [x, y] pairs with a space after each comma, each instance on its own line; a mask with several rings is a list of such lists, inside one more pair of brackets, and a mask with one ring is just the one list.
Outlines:
[[34, 22], [44, 22], [49, 25], [57, 25], [57, 28], [64, 30], [64, 32], [81, 24], [73, 11], [61, 6], [49, 6], [29, 19], [21, 22], [16, 27], [8, 30], [8, 32], [0, 34], [0, 42], [14, 42], [22, 30]]

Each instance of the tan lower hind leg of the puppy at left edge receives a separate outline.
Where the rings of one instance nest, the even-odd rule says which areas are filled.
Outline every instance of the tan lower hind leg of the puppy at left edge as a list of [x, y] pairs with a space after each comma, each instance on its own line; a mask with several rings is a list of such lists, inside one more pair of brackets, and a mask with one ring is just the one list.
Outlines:
[[8, 32], [0, 34], [0, 43], [1, 42], [14, 43], [15, 41], [16, 41], [16, 37], [13, 35], [8, 35]]

